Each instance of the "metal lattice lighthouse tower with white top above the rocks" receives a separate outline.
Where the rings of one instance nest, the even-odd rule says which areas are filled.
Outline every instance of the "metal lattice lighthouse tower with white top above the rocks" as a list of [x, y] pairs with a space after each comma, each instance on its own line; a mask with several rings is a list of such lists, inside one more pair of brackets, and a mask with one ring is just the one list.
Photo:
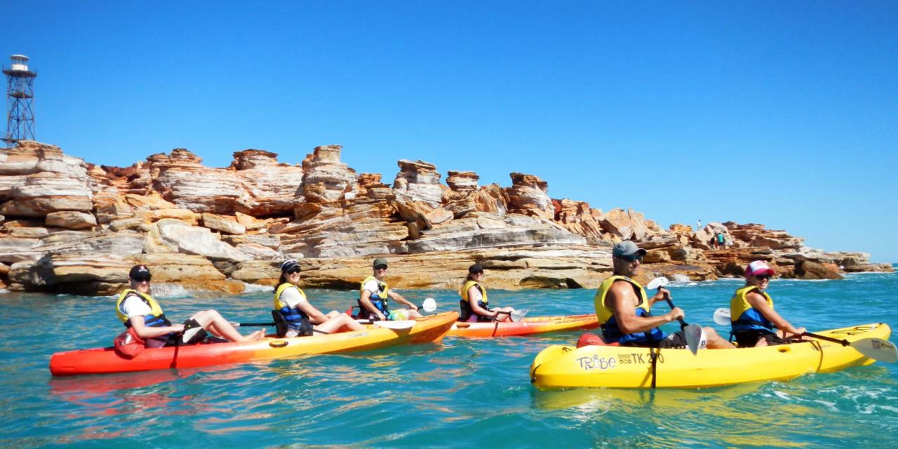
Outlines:
[[6, 136], [13, 144], [20, 140], [34, 140], [34, 78], [37, 72], [28, 68], [28, 57], [13, 55], [10, 66], [3, 67], [6, 75]]

